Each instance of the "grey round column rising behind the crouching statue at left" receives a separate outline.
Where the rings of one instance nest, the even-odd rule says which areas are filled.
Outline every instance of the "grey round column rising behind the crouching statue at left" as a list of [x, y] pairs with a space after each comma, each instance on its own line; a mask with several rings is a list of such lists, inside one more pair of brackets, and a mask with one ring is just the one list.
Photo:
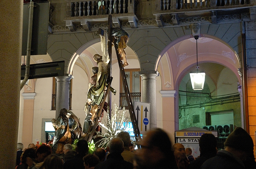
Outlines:
[[57, 82], [57, 92], [56, 92], [56, 115], [55, 118], [59, 116], [59, 111], [63, 108], [69, 110], [69, 83], [72, 78], [71, 74], [65, 76], [55, 77]]

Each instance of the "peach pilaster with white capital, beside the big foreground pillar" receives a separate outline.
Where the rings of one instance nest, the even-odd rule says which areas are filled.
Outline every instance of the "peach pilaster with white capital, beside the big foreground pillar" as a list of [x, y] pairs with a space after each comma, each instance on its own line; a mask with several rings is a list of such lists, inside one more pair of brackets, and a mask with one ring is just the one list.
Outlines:
[[34, 117], [34, 100], [36, 93], [22, 93], [24, 97], [24, 112], [23, 112], [23, 128], [22, 128], [22, 143], [24, 147], [28, 147], [30, 143], [33, 143], [33, 117]]

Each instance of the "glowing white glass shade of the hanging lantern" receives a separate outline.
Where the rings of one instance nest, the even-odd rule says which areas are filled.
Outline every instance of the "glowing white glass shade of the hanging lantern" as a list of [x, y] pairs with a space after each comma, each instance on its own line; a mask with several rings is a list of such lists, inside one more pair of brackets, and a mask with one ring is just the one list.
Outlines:
[[204, 83], [205, 83], [205, 73], [189, 73], [190, 74], [190, 80], [192, 84], [193, 90], [203, 90], [204, 89]]

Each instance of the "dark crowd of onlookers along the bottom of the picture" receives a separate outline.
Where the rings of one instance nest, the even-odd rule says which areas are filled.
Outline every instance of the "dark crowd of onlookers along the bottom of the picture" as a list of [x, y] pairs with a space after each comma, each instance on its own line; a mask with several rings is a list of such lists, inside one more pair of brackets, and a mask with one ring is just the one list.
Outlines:
[[51, 147], [17, 144], [16, 169], [256, 169], [254, 144], [251, 136], [237, 127], [217, 150], [213, 134], [199, 139], [200, 156], [196, 159], [191, 148], [181, 143], [172, 145], [168, 134], [155, 128], [147, 132], [133, 151], [130, 135], [121, 131], [112, 138], [106, 149], [97, 148], [88, 154], [88, 142], [80, 139], [76, 150], [66, 144], [63, 156], [52, 153]]

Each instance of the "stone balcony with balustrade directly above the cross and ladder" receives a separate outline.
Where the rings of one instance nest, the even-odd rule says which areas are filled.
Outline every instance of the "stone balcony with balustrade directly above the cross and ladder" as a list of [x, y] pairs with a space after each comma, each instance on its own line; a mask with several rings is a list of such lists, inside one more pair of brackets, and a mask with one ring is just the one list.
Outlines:
[[136, 0], [67, 0], [66, 26], [76, 31], [77, 25], [90, 31], [93, 24], [108, 23], [108, 14], [112, 14], [115, 27], [122, 27], [122, 22], [129, 22], [132, 28], [137, 28]]

